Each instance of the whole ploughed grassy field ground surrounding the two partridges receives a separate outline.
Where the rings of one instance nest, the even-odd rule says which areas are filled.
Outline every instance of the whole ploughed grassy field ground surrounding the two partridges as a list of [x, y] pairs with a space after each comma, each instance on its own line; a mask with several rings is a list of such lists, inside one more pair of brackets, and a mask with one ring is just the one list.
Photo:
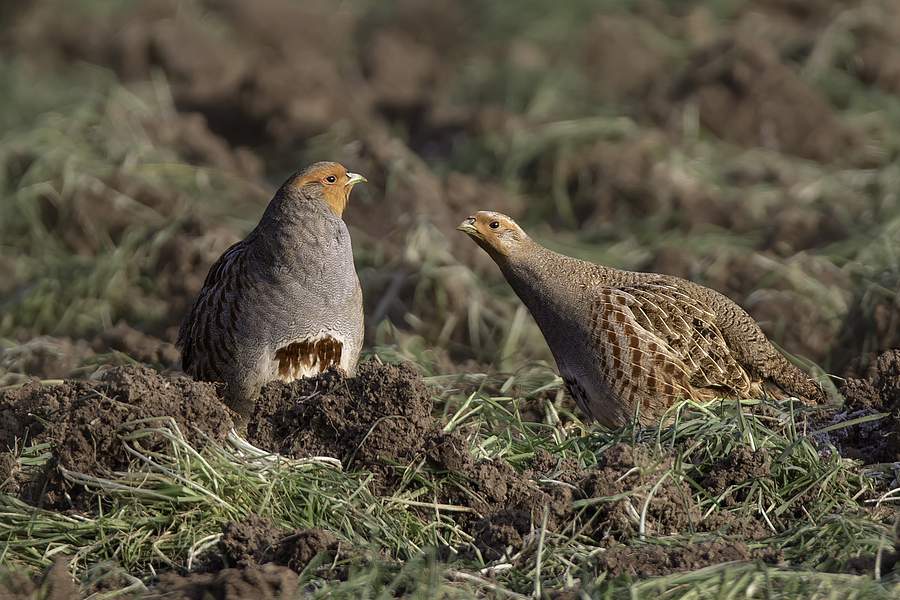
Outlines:
[[[900, 596], [896, 3], [41, 0], [0, 48], [0, 598]], [[321, 159], [365, 362], [238, 437], [172, 341]], [[728, 294], [833, 404], [585, 425], [477, 209]]]

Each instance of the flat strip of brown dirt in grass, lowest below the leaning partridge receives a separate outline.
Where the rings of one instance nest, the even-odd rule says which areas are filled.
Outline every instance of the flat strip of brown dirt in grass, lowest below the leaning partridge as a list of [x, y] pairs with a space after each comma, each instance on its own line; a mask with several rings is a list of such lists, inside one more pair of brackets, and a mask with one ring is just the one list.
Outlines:
[[756, 553], [740, 541], [679, 543], [673, 545], [612, 544], [597, 555], [597, 569], [610, 577], [658, 577], [693, 571], [724, 562], [752, 560]]

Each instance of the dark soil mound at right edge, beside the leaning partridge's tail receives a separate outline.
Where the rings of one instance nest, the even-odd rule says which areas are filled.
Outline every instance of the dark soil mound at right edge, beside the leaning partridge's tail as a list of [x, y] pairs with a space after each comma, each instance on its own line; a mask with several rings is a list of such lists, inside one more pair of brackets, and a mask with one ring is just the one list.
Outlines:
[[868, 367], [851, 368], [841, 385], [846, 404], [827, 425], [876, 413], [888, 413], [876, 421], [840, 428], [826, 434], [842, 456], [864, 463], [900, 460], [900, 350], [884, 352], [868, 361]]

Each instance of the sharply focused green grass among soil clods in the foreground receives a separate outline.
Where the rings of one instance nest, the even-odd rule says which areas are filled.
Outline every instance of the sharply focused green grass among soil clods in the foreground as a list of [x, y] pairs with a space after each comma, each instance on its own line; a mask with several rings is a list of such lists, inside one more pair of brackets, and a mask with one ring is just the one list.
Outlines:
[[[672, 425], [587, 430], [570, 420], [552, 394], [547, 396], [558, 381], [542, 369], [428, 381], [440, 398], [437, 408], [447, 415], [447, 429], [463, 434], [475, 456], [504, 460], [521, 470], [540, 448], [589, 469], [608, 448], [625, 443], [646, 452], [639, 468], [647, 477], [619, 497], [577, 500], [572, 527], [545, 532], [540, 523], [534, 523], [532, 537], [514, 556], [484, 563], [472, 558], [477, 554], [466, 558], [466, 549], [472, 550], [471, 538], [458, 523], [459, 513], [440, 504], [434, 505], [433, 515], [438, 516], [409, 510], [412, 488], [373, 495], [367, 487], [371, 475], [365, 471], [343, 471], [334, 459], [298, 461], [272, 456], [239, 438], [197, 451], [174, 421], [153, 419], [123, 425], [123, 431], [130, 433], [122, 435], [122, 444], [135, 457], [127, 473], [99, 478], [63, 471], [71, 482], [96, 492], [96, 513], [44, 511], [0, 496], [0, 537], [6, 544], [3, 562], [41, 568], [53, 556], [71, 555], [71, 568], [80, 577], [87, 578], [93, 564], [110, 561], [149, 583], [156, 571], [197, 564], [218, 541], [226, 522], [256, 513], [285, 527], [327, 529], [356, 550], [341, 559], [349, 567], [347, 580], [320, 582], [319, 592], [329, 597], [362, 588], [376, 597], [400, 581], [403, 589], [418, 590], [414, 595], [441, 589], [448, 597], [477, 592], [529, 596], [538, 588], [573, 586], [611, 598], [651, 593], [666, 598], [738, 593], [751, 598], [776, 597], [766, 595], [773, 593], [817, 598], [840, 590], [861, 598], [887, 598], [900, 590], [895, 575], [879, 582], [871, 575], [829, 573], [844, 570], [851, 559], [875, 557], [892, 547], [894, 510], [890, 502], [880, 508], [865, 502], [883, 483], [878, 484], [859, 463], [841, 458], [827, 440], [823, 443], [817, 432], [810, 431], [809, 409], [788, 403], [764, 406], [758, 401], [684, 404], [673, 409], [677, 418]], [[522, 418], [522, 403], [535, 394], [545, 398], [546, 422]], [[554, 418], [560, 411], [562, 421]], [[167, 449], [145, 450], [142, 440], [151, 436], [165, 439]], [[711, 465], [741, 448], [769, 456], [769, 473], [736, 482], [718, 497], [710, 496], [698, 482]], [[46, 450], [44, 446], [21, 449], [23, 468], [36, 468], [49, 456]], [[432, 472], [419, 463], [400, 468], [417, 474], [414, 486], [425, 486], [414, 494], [419, 499], [434, 497], [451, 480], [452, 485], [460, 484], [453, 474]], [[645, 522], [650, 519], [646, 505], [661, 474], [687, 483], [688, 506], [700, 516], [693, 524], [697, 531], [658, 535], [655, 522]], [[742, 491], [740, 501], [721, 502], [737, 491]], [[786, 562], [782, 566], [718, 565], [645, 581], [609, 580], [594, 570], [592, 560], [609, 542], [586, 535], [575, 524], [589, 523], [603, 507], [622, 502], [634, 508], [634, 530], [646, 532], [646, 536], [622, 538], [626, 544], [708, 539], [711, 534], [702, 533], [704, 522], [727, 513], [738, 521], [764, 520], [771, 528], [769, 535], [748, 542], [750, 547], [781, 552]], [[422, 506], [428, 505], [425, 501]], [[431, 549], [441, 546], [461, 554], [435, 561]], [[320, 565], [318, 576], [327, 575], [332, 567]], [[313, 568], [305, 576], [316, 578], [316, 572]]]

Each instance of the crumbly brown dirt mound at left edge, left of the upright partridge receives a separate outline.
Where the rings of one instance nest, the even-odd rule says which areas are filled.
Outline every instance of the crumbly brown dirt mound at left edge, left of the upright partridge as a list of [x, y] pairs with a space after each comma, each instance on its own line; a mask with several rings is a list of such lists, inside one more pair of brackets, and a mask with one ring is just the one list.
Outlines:
[[124, 424], [164, 416], [174, 418], [198, 447], [207, 438], [223, 440], [232, 427], [212, 385], [163, 377], [146, 367], [114, 367], [95, 381], [34, 382], [0, 391], [0, 448], [12, 449], [23, 440], [50, 443], [53, 459], [22, 493], [33, 503], [57, 505], [76, 492], [57, 465], [87, 474], [122, 470], [129, 463], [119, 440]]

